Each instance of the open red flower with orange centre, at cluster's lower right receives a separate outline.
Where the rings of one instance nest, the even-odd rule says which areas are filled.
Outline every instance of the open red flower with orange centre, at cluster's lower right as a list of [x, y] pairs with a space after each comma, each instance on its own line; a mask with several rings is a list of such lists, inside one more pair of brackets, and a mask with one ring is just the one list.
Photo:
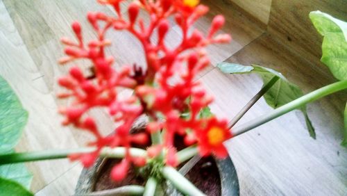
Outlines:
[[198, 137], [198, 149], [201, 156], [208, 156], [211, 153], [219, 158], [228, 156], [228, 151], [223, 142], [230, 139], [231, 133], [226, 120], [218, 121], [215, 117], [208, 120], [205, 129], [196, 131]]

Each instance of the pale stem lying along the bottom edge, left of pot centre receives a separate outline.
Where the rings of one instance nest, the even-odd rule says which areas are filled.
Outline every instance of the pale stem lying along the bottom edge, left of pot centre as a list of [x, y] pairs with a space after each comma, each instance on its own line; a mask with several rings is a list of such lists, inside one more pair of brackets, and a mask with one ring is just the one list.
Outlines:
[[[99, 190], [92, 193], [83, 194], [83, 196], [106, 196], [106, 195], [142, 195], [144, 187], [137, 185], [121, 186], [108, 190]], [[80, 195], [75, 195], [80, 196]]]

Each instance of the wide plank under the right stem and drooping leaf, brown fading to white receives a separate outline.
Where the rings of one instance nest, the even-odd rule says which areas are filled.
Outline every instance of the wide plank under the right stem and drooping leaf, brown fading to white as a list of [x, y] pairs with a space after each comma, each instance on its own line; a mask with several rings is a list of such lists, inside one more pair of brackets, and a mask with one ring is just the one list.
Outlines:
[[[314, 72], [305, 59], [286, 51], [267, 34], [248, 44], [227, 62], [257, 63], [274, 68], [305, 92], [334, 81], [332, 77]], [[229, 119], [262, 85], [255, 75], [226, 75], [217, 69], [203, 76], [201, 81], [216, 99], [212, 111]], [[316, 140], [308, 136], [303, 115], [293, 111], [226, 142], [237, 168], [241, 195], [347, 193], [347, 170], [344, 167], [347, 150], [339, 145], [344, 130], [342, 111], [346, 97], [346, 91], [339, 92], [307, 106], [316, 128]], [[261, 99], [239, 124], [271, 110]]]

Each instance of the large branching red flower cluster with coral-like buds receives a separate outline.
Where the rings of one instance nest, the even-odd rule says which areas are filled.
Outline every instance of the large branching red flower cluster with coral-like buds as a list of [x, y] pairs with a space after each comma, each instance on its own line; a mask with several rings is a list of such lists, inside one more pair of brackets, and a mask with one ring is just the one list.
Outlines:
[[[87, 76], [79, 67], [71, 67], [69, 75], [59, 80], [67, 92], [58, 97], [74, 99], [71, 106], [60, 109], [60, 113], [66, 117], [63, 124], [73, 124], [94, 134], [96, 138], [90, 144], [96, 147], [95, 152], [74, 155], [74, 158], [79, 158], [88, 167], [99, 156], [102, 147], [126, 147], [124, 160], [112, 170], [111, 176], [115, 180], [125, 176], [130, 163], [144, 165], [146, 160], [132, 157], [129, 152], [132, 144], [143, 144], [149, 140], [144, 133], [130, 134], [130, 128], [142, 114], [149, 116], [147, 131], [164, 133], [161, 145], [149, 147], [149, 158], [158, 156], [165, 149], [166, 164], [176, 166], [176, 134], [185, 137], [186, 145], [197, 143], [203, 156], [211, 153], [226, 156], [222, 143], [231, 137], [226, 121], [199, 115], [212, 98], [206, 95], [200, 83], [194, 81], [198, 72], [210, 63], [203, 49], [208, 44], [231, 40], [227, 34], [215, 35], [224, 24], [223, 16], [214, 17], [208, 35], [203, 35], [191, 29], [194, 22], [208, 12], [208, 7], [199, 5], [198, 0], [133, 1], [128, 6], [127, 18], [121, 12], [121, 1], [99, 0], [113, 6], [116, 16], [87, 14], [97, 33], [97, 40], [83, 42], [78, 22], [72, 24], [78, 42], [62, 38], [67, 57], [60, 59], [61, 64], [85, 58], [93, 65], [91, 76]], [[141, 10], [150, 16], [148, 25], [139, 17]], [[174, 49], [169, 49], [164, 42], [171, 28], [169, 17], [175, 19], [183, 33], [182, 42]], [[128, 31], [142, 43], [146, 66], [124, 66], [121, 70], [112, 67], [114, 58], [105, 55], [105, 47], [111, 43], [105, 39], [105, 33], [110, 29]], [[153, 35], [158, 38], [155, 42], [151, 41]], [[135, 93], [123, 100], [118, 96], [119, 88], [132, 89]], [[86, 112], [94, 107], [108, 108], [110, 117], [115, 122], [121, 122], [111, 136], [101, 136], [94, 119], [87, 116]]]

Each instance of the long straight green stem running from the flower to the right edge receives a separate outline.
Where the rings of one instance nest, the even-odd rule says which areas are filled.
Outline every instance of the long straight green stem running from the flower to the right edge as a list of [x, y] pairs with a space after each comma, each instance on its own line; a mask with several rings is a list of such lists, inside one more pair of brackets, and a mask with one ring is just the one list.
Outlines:
[[251, 122], [247, 122], [246, 124], [235, 127], [235, 129], [232, 129], [232, 135], [238, 136], [242, 133], [245, 133], [246, 131], [254, 129], [257, 126], [269, 122], [270, 120], [273, 120], [276, 117], [284, 115], [285, 113], [289, 113], [290, 111], [293, 111], [296, 108], [300, 108], [301, 106], [304, 106], [307, 103], [316, 101], [321, 97], [325, 97], [326, 95], [330, 95], [334, 92], [344, 90], [346, 88], [347, 81], [339, 81], [330, 85], [325, 85], [324, 87], [314, 90], [313, 92], [310, 92], [309, 94], [304, 95], [303, 97], [295, 99], [294, 101], [291, 101], [288, 104], [285, 104], [284, 106], [281, 106], [280, 108], [277, 108], [276, 110], [273, 110], [270, 113], [263, 115], [262, 117], [257, 117], [255, 120], [252, 120]]

